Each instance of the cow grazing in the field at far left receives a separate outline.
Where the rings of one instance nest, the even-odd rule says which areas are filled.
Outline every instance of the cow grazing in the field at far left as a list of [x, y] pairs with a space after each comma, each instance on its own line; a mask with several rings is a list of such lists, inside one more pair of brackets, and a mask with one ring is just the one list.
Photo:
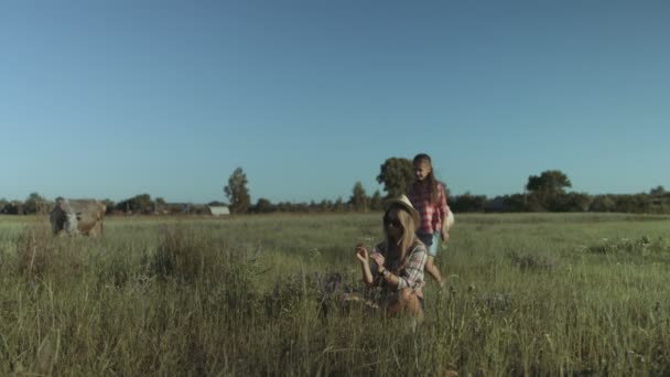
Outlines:
[[107, 206], [95, 200], [58, 200], [51, 212], [51, 227], [55, 235], [104, 235]]

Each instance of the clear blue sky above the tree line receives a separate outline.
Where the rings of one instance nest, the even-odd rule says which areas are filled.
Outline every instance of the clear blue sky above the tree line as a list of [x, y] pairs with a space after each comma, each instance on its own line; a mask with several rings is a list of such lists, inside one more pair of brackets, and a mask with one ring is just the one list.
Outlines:
[[669, 41], [668, 1], [2, 1], [0, 197], [346, 200], [418, 152], [668, 188]]

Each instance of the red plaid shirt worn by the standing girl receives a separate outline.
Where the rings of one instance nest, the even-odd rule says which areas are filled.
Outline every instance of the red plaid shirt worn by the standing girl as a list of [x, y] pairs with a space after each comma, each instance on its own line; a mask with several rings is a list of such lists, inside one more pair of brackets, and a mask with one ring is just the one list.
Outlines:
[[444, 194], [444, 185], [437, 182], [437, 204], [431, 203], [431, 192], [428, 185], [413, 184], [408, 190], [408, 197], [421, 216], [418, 231], [429, 235], [442, 231], [442, 222], [446, 218], [449, 205]]

